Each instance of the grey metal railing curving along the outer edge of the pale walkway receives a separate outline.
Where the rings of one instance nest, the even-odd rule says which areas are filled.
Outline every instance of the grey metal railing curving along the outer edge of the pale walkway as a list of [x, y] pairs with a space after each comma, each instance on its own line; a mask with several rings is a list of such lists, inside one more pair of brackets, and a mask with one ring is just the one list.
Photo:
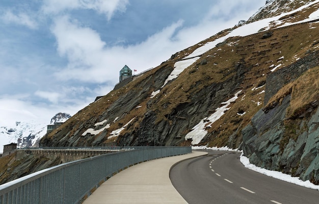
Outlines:
[[[51, 149], [51, 148], [50, 148]], [[70, 149], [70, 148], [68, 148]], [[188, 154], [191, 147], [126, 147], [47, 168], [0, 186], [0, 204], [77, 204], [115, 173], [140, 162]]]

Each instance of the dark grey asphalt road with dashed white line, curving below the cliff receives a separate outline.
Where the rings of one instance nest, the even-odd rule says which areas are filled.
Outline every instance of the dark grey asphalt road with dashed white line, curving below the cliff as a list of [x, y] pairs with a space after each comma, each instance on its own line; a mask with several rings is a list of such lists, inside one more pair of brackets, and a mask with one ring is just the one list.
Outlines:
[[205, 203], [319, 203], [319, 191], [277, 180], [249, 170], [240, 153], [206, 151], [170, 171], [172, 184], [189, 204]]

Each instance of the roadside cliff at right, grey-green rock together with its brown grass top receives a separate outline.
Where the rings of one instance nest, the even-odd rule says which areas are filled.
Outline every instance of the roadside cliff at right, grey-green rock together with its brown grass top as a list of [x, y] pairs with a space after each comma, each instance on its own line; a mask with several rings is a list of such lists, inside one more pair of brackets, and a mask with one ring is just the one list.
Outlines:
[[258, 166], [319, 184], [319, 52], [269, 74], [265, 101], [242, 130], [241, 148]]

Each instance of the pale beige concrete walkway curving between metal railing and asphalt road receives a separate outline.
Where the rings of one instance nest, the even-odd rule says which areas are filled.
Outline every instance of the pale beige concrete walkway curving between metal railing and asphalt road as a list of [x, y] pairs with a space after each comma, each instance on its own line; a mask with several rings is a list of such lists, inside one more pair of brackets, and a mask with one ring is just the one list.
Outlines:
[[205, 154], [193, 152], [131, 166], [104, 182], [83, 203], [187, 203], [171, 183], [170, 168], [181, 160]]

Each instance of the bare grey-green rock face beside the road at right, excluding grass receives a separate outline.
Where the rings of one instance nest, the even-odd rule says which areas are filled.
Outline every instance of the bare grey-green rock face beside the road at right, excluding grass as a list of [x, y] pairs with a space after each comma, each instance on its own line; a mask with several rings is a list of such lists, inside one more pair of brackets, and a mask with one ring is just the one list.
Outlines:
[[243, 129], [241, 148], [251, 163], [319, 184], [319, 109], [296, 121], [297, 138], [287, 138], [284, 125], [290, 96], [265, 113], [259, 110]]

